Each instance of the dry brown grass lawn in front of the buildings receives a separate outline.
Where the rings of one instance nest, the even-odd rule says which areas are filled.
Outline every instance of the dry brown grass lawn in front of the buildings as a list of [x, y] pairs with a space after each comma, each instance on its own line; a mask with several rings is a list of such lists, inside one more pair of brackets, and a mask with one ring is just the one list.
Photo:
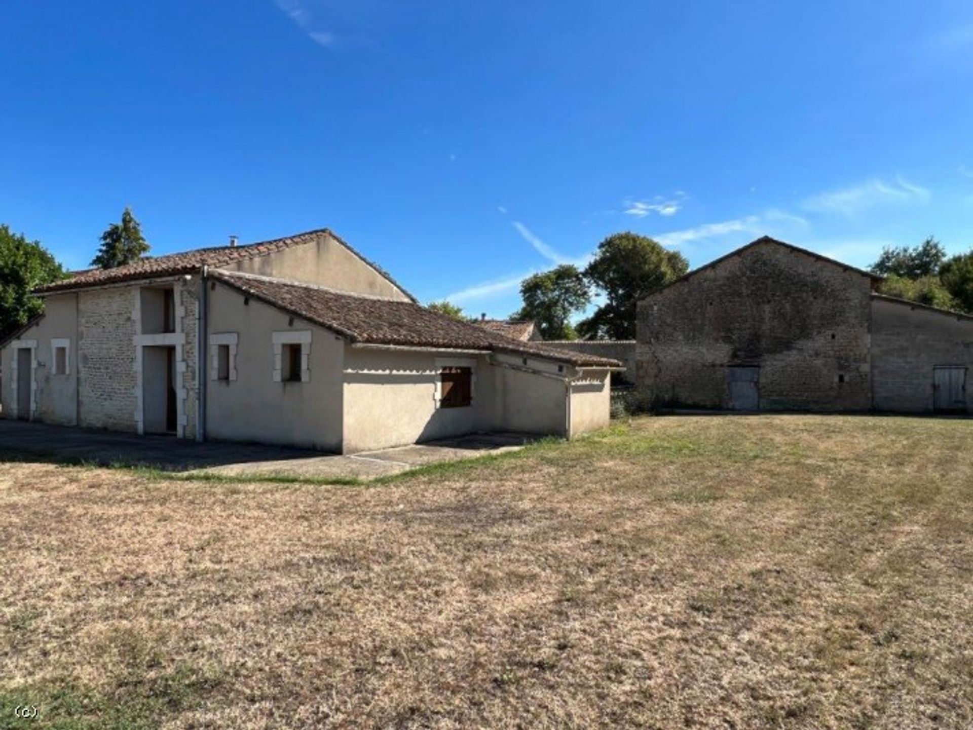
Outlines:
[[368, 488], [0, 469], [0, 727], [973, 726], [970, 421], [643, 418]]

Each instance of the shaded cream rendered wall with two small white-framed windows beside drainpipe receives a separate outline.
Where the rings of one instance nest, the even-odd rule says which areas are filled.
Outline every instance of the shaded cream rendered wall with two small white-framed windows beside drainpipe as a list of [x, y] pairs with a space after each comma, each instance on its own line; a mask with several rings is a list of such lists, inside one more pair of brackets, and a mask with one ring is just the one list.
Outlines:
[[[342, 444], [344, 342], [223, 284], [209, 291], [209, 334], [238, 332], [236, 380], [206, 380], [206, 437], [338, 451]], [[275, 331], [310, 330], [310, 380], [273, 381]], [[208, 339], [208, 337], [207, 337]], [[208, 344], [207, 344], [208, 348]], [[208, 352], [207, 352], [207, 365]]]

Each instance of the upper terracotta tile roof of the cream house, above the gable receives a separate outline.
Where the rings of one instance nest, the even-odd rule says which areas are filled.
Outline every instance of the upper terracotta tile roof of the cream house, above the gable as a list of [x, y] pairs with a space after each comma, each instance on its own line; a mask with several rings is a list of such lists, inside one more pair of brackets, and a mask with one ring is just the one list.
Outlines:
[[216, 248], [197, 249], [181, 254], [168, 254], [166, 256], [147, 257], [134, 261], [126, 266], [117, 268], [90, 268], [84, 271], [75, 271], [71, 278], [55, 282], [36, 290], [38, 294], [50, 294], [53, 292], [63, 292], [72, 289], [84, 289], [86, 287], [98, 287], [106, 284], [120, 284], [127, 281], [137, 281], [139, 279], [152, 279], [162, 276], [179, 276], [182, 274], [196, 273], [202, 266], [227, 266], [234, 261], [256, 259], [268, 256], [274, 252], [303, 246], [306, 243], [313, 243], [322, 238], [331, 237], [338, 241], [348, 251], [374, 268], [392, 284], [410, 295], [396, 282], [388, 272], [380, 266], [369, 261], [351, 246], [345, 243], [342, 238], [328, 228], [308, 230], [306, 233], [297, 233], [284, 238], [275, 238], [271, 241], [262, 241], [245, 246], [218, 246]]

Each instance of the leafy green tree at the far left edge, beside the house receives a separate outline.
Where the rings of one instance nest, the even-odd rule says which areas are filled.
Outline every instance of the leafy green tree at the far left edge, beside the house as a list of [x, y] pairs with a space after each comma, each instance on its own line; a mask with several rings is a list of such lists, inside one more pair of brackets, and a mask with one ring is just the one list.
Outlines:
[[64, 276], [64, 269], [40, 242], [0, 225], [0, 339], [44, 311], [41, 299], [30, 295], [33, 289]]

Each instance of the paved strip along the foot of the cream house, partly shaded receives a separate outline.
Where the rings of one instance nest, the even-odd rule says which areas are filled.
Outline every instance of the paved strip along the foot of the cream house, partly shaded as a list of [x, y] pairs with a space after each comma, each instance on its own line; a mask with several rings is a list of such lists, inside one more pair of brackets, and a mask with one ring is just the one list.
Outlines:
[[371, 479], [487, 453], [516, 450], [536, 436], [469, 435], [349, 456], [262, 444], [119, 434], [0, 418], [0, 450], [57, 460], [126, 464], [169, 471]]

